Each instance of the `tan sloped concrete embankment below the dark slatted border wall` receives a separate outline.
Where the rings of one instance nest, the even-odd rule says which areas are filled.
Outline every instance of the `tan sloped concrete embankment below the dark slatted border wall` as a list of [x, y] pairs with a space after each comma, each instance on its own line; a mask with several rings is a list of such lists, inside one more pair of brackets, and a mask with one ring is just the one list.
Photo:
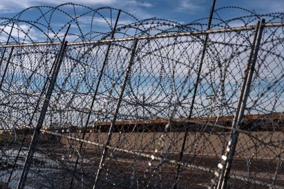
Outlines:
[[[82, 138], [82, 133], [72, 133], [72, 137]], [[105, 144], [108, 133], [86, 133], [85, 139]], [[184, 133], [113, 133], [110, 145], [118, 146], [128, 150], [143, 152], [163, 151], [169, 154], [178, 154], [184, 138]], [[196, 154], [199, 156], [221, 156], [226, 149], [229, 133], [188, 133], [185, 154]], [[279, 159], [279, 154], [283, 152], [284, 134], [282, 132], [253, 132], [250, 135], [239, 134], [235, 157], [249, 159]], [[80, 147], [80, 142], [61, 138], [65, 147]], [[83, 148], [97, 148], [91, 144], [83, 144]]]

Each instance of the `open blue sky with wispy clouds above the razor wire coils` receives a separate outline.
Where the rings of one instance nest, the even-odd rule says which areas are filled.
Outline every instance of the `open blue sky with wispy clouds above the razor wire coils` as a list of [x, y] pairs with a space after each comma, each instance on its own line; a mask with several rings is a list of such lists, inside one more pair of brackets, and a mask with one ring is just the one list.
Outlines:
[[[176, 22], [189, 23], [199, 18], [208, 17], [212, 0], [165, 0], [165, 1], [139, 1], [139, 0], [2, 0], [0, 3], [0, 16], [12, 17], [20, 10], [26, 9], [31, 6], [37, 5], [50, 5], [56, 6], [62, 3], [78, 3], [89, 6], [91, 8], [99, 8], [104, 6], [110, 6], [113, 8], [122, 9], [130, 14], [136, 16], [139, 20], [145, 18], [164, 18], [174, 20]], [[239, 1], [227, 1], [217, 0], [215, 9], [236, 6], [242, 7], [248, 10], [255, 10], [257, 14], [264, 14], [269, 12], [283, 12], [284, 1], [281, 0], [239, 0]], [[240, 11], [232, 11], [231, 9], [222, 12], [226, 17], [237, 17], [241, 14], [247, 14]], [[30, 18], [33, 15], [30, 14]]]

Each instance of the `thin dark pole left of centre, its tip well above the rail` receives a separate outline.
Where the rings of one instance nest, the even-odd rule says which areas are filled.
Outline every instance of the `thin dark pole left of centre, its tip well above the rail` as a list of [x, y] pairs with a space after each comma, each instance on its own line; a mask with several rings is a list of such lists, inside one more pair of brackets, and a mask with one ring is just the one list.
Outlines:
[[[117, 22], [118, 22], [118, 18], [119, 18], [120, 12], [121, 12], [121, 10], [119, 9], [110, 39], [113, 39], [113, 38], [114, 38], [114, 32], [115, 32], [115, 30], [116, 30], [116, 25], [117, 25]], [[110, 51], [110, 46], [111, 46], [111, 43], [108, 44], [108, 48], [107, 48], [107, 50], [106, 50], [105, 60], [104, 60], [104, 62], [103, 62], [103, 67], [102, 67], [102, 69], [101, 69], [101, 73], [100, 73], [100, 76], [99, 76], [99, 81], [98, 81], [97, 86], [96, 86], [96, 89], [95, 89], [95, 93], [94, 93], [94, 96], [93, 96], [93, 100], [92, 100], [92, 103], [91, 103], [90, 110], [93, 109], [94, 102], [95, 102], [95, 99], [96, 99], [96, 97], [97, 97], [97, 92], [98, 92], [98, 89], [99, 89], [99, 85], [100, 85], [100, 82], [101, 82], [101, 78], [102, 78], [102, 76], [103, 76], [103, 72], [104, 72], [104, 69], [105, 69], [105, 65], [106, 65], [106, 62], [107, 62], [107, 59], [108, 59], [108, 54], [109, 54], [109, 51]], [[87, 126], [88, 126], [88, 124], [89, 124], [90, 117], [91, 117], [91, 111], [89, 111], [88, 117], [87, 117], [87, 120], [86, 120], [85, 129], [84, 129], [83, 136], [82, 136], [82, 139], [83, 139], [83, 140], [84, 140], [85, 135], [86, 135], [86, 132], [87, 132]], [[83, 146], [83, 142], [81, 142], [81, 144], [80, 144], [79, 154], [80, 154], [80, 152], [81, 152], [81, 150], [82, 150], [82, 146]], [[72, 178], [71, 178], [71, 181], [70, 181], [69, 189], [72, 188], [72, 184], [73, 184], [73, 180], [74, 180], [76, 168], [77, 168], [77, 165], [78, 165], [78, 161], [79, 161], [79, 156], [77, 156], [77, 159], [76, 159], [76, 163], [75, 163], [75, 167], [74, 167], [74, 170], [73, 170], [73, 173], [72, 173]]]

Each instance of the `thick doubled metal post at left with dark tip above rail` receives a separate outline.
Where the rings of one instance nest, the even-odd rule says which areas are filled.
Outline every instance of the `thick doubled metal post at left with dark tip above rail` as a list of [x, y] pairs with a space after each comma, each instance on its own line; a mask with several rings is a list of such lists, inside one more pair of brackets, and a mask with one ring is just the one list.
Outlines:
[[67, 41], [65, 40], [65, 38], [66, 38], [66, 35], [68, 33], [69, 28], [70, 28], [70, 24], [68, 26], [68, 29], [67, 29], [67, 31], [64, 35], [64, 38], [63, 38], [62, 43], [61, 43], [60, 48], [59, 48], [58, 54], [60, 56], [57, 56], [57, 58], [56, 58], [55, 67], [53, 69], [53, 72], [52, 72], [52, 75], [51, 75], [51, 78], [50, 78], [50, 81], [49, 81], [49, 85], [48, 85], [47, 91], [45, 93], [45, 100], [43, 101], [43, 106], [41, 107], [41, 112], [40, 112], [39, 118], [37, 120], [37, 125], [36, 125], [36, 128], [35, 128], [33, 137], [32, 137], [32, 141], [30, 143], [30, 147], [29, 147], [29, 150], [28, 150], [28, 154], [27, 154], [23, 169], [22, 169], [22, 173], [21, 173], [21, 177], [20, 177], [19, 182], [18, 182], [17, 189], [24, 188], [24, 184], [25, 184], [26, 178], [28, 176], [29, 167], [30, 167], [33, 155], [34, 155], [37, 139], [39, 137], [39, 132], [40, 132], [40, 129], [42, 127], [42, 124], [43, 124], [43, 121], [44, 121], [44, 118], [45, 118], [45, 114], [46, 114], [46, 110], [47, 110], [47, 107], [48, 107], [48, 104], [49, 104], [49, 100], [51, 98], [51, 94], [52, 94], [53, 89], [54, 89], [54, 85], [55, 85], [55, 82], [56, 82], [56, 79], [57, 79], [57, 75], [58, 75], [58, 72], [59, 72], [63, 57], [64, 57], [64, 53], [65, 53], [65, 49], [66, 49], [66, 45], [67, 45]]

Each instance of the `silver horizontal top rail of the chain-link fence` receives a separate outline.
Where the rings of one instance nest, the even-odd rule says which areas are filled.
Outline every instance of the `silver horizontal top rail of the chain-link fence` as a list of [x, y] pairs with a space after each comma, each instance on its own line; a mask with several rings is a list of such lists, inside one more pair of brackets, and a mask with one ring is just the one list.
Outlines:
[[[284, 22], [269, 22], [265, 23], [264, 27], [280, 27], [284, 26]], [[83, 41], [75, 43], [67, 43], [68, 46], [72, 45], [89, 45], [95, 43], [109, 43], [109, 42], [120, 42], [120, 41], [132, 41], [135, 39], [156, 39], [156, 38], [166, 38], [166, 37], [182, 37], [190, 35], [201, 35], [201, 34], [210, 34], [210, 33], [224, 33], [224, 32], [236, 32], [236, 31], [245, 31], [245, 30], [254, 30], [255, 25], [251, 26], [240, 26], [233, 28], [219, 28], [214, 30], [201, 30], [195, 32], [181, 32], [181, 33], [167, 33], [161, 35], [149, 35], [149, 36], [140, 36], [140, 37], [128, 37], [128, 38], [119, 38], [119, 39], [105, 39], [97, 41]], [[1, 45], [0, 47], [27, 47], [27, 46], [42, 46], [42, 45], [60, 45], [61, 42], [45, 42], [45, 43], [28, 43], [28, 44], [14, 44], [14, 45]]]

